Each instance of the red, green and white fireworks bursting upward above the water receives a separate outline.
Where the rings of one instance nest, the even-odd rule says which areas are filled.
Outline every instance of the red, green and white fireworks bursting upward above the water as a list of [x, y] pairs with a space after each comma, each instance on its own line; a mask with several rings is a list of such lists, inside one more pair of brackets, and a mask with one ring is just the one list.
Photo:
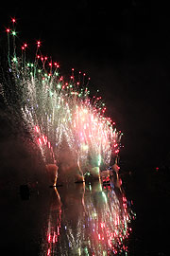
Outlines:
[[94, 170], [101, 163], [109, 165], [111, 156], [119, 153], [122, 133], [105, 116], [101, 97], [90, 98], [90, 79], [85, 73], [76, 76], [72, 68], [70, 80], [65, 81], [59, 64], [42, 55], [41, 41], [37, 41], [35, 58], [27, 62], [26, 43], [17, 53], [15, 24], [12, 19], [12, 29], [7, 28], [8, 70], [4, 72], [11, 79], [9, 84], [7, 79], [1, 82], [1, 90], [13, 113], [21, 115], [44, 162], [59, 163], [62, 144], [66, 143], [81, 173], [87, 167]]

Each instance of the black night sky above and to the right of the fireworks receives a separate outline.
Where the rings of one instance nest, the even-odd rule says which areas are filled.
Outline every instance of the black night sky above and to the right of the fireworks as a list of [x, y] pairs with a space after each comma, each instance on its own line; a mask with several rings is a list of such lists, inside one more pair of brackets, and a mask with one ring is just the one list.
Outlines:
[[40, 39], [42, 52], [59, 62], [61, 73], [72, 67], [88, 73], [90, 89], [100, 90], [107, 115], [124, 132], [122, 158], [130, 166], [165, 163], [170, 17], [163, 1], [35, 3], [3, 5], [1, 35], [15, 16], [21, 43]]

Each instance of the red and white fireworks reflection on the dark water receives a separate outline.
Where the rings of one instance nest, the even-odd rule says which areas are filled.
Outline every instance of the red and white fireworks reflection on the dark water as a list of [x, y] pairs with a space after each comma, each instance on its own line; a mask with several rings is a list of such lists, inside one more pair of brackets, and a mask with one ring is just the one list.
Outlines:
[[132, 211], [110, 186], [67, 185], [52, 191], [41, 256], [127, 255]]

